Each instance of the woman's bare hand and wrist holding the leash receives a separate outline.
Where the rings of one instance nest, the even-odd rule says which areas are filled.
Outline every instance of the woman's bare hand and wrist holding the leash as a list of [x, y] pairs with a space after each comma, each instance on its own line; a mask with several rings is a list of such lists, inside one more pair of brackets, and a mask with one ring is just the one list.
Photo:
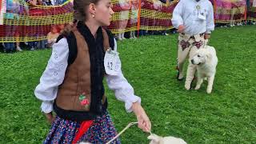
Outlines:
[[132, 110], [134, 111], [134, 114], [137, 116], [138, 127], [143, 131], [150, 132], [151, 130], [150, 118], [148, 118], [142, 106], [138, 102], [134, 102], [132, 106]]

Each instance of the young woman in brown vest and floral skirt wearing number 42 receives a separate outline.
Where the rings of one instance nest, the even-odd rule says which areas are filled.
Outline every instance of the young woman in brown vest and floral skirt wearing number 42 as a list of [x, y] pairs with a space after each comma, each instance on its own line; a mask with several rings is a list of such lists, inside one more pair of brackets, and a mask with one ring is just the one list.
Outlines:
[[[110, 6], [110, 0], [74, 0], [78, 22], [57, 39], [34, 91], [42, 100], [42, 112], [52, 122], [44, 143], [106, 143], [114, 138], [117, 132], [106, 110], [104, 76], [116, 98], [137, 116], [138, 127], [150, 131], [141, 99], [122, 74], [114, 37], [102, 29], [110, 25], [114, 14]], [[120, 143], [119, 139], [114, 143]]]

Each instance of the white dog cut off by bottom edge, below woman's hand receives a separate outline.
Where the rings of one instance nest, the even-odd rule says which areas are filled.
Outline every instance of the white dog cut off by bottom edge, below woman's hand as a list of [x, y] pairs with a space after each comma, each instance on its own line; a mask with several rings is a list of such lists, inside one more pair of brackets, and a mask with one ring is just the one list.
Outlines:
[[181, 138], [160, 137], [157, 134], [151, 134], [147, 138], [151, 140], [150, 144], [186, 144]]

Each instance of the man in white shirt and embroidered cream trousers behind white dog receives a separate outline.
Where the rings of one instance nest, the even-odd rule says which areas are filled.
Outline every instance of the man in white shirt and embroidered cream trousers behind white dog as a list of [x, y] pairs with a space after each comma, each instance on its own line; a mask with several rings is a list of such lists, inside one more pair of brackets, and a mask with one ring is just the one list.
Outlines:
[[[206, 44], [210, 33], [214, 30], [214, 10], [208, 0], [181, 0], [174, 8], [173, 26], [178, 29], [178, 80], [182, 80], [183, 64], [189, 55], [191, 58], [196, 50]], [[196, 67], [191, 63], [186, 74], [186, 90], [190, 90], [190, 84], [194, 78]]]

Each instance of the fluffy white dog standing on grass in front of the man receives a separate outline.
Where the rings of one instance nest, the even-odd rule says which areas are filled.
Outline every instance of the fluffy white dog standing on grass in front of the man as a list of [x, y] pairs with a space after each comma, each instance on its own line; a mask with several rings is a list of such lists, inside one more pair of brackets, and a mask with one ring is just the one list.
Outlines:
[[208, 86], [206, 92], [210, 94], [218, 64], [216, 50], [213, 46], [205, 46], [205, 48], [199, 49], [190, 61], [192, 64], [197, 65], [198, 82], [194, 90], [200, 89], [203, 79], [207, 79]]

